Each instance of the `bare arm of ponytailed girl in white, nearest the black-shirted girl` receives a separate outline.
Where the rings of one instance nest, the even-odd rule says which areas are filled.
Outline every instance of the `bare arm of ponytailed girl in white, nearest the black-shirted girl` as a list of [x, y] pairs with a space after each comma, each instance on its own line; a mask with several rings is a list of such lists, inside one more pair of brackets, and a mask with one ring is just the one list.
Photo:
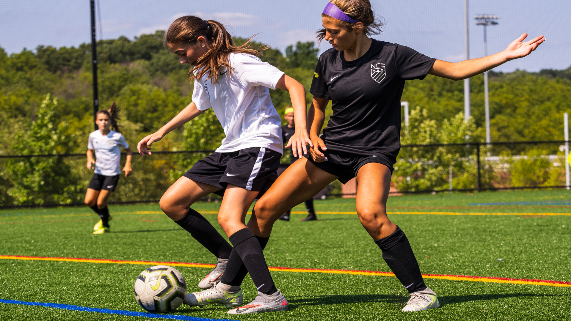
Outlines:
[[[289, 92], [291, 106], [293, 107], [293, 118], [295, 119], [295, 134], [289, 139], [286, 148], [291, 146], [294, 157], [303, 157], [307, 154], [307, 144], [313, 147], [309, 134], [307, 133], [307, 106], [305, 105], [305, 88], [295, 79], [284, 74], [276, 85], [279, 89]], [[303, 153], [303, 154], [302, 154]]]

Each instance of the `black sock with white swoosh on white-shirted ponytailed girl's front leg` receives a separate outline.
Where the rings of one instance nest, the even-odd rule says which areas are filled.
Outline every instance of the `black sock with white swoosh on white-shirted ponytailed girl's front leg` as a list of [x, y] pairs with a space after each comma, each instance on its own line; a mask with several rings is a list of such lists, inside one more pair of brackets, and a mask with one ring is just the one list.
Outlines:
[[254, 281], [258, 291], [267, 295], [277, 292], [278, 289], [274, 284], [274, 280], [272, 280], [270, 270], [268, 270], [262, 246], [252, 231], [248, 230], [248, 228], [243, 228], [230, 235], [230, 242], [234, 245], [233, 251], [238, 253], [248, 272], [250, 272], [252, 281]]

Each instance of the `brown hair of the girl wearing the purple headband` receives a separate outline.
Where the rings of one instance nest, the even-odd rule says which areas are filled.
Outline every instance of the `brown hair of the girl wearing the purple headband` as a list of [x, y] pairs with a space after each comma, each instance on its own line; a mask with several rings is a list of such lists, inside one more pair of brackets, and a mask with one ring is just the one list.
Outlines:
[[[329, 2], [341, 9], [349, 18], [363, 23], [363, 29], [369, 37], [372, 34], [383, 32], [381, 29], [384, 28], [386, 23], [384, 20], [375, 19], [375, 13], [371, 9], [369, 0], [329, 0]], [[321, 17], [332, 18], [324, 13], [321, 14]], [[347, 30], [353, 30], [356, 27], [355, 23], [343, 20], [339, 20], [338, 24]], [[320, 43], [325, 38], [325, 29], [317, 30], [316, 34], [317, 43]]]

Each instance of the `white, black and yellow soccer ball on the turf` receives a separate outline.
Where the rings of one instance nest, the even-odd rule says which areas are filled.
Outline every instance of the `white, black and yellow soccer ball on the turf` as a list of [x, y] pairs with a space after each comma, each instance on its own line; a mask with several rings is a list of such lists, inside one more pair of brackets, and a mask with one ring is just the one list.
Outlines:
[[148, 312], [171, 312], [186, 295], [186, 282], [179, 271], [166, 265], [147, 268], [135, 280], [135, 300]]

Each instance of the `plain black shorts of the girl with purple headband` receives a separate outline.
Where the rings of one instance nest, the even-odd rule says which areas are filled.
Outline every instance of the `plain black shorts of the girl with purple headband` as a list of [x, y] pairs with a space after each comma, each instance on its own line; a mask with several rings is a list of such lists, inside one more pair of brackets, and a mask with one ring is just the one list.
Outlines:
[[391, 170], [391, 173], [395, 171], [392, 163], [384, 155], [358, 155], [338, 150], [324, 151], [323, 155], [327, 157], [327, 162], [317, 163], [309, 153], [305, 155], [305, 158], [329, 174], [339, 176], [339, 181], [343, 184], [356, 177], [359, 168], [367, 163], [383, 164]]

